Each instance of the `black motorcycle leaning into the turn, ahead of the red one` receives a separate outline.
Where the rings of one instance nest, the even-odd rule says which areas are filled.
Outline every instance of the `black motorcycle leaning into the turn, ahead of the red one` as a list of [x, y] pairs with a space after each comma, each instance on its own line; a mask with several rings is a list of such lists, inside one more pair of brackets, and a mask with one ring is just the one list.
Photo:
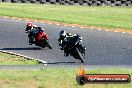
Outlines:
[[64, 47], [64, 53], [66, 56], [71, 55], [84, 63], [85, 47], [82, 46], [81, 42], [82, 40], [79, 37], [76, 37], [74, 41], [67, 41], [66, 46]]

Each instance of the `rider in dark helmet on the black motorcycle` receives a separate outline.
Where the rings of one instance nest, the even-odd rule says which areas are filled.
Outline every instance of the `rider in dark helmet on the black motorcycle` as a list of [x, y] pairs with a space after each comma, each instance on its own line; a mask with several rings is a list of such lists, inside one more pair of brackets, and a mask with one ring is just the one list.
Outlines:
[[61, 46], [61, 50], [64, 50], [64, 56], [68, 56], [69, 52], [67, 50], [67, 46], [71, 43], [75, 43], [77, 40], [79, 40], [79, 45], [81, 49], [85, 52], [85, 47], [82, 45], [82, 37], [77, 35], [77, 34], [71, 34], [71, 33], [66, 33], [66, 31], [62, 30], [60, 32], [60, 38], [58, 39], [59, 41], [59, 46]]

